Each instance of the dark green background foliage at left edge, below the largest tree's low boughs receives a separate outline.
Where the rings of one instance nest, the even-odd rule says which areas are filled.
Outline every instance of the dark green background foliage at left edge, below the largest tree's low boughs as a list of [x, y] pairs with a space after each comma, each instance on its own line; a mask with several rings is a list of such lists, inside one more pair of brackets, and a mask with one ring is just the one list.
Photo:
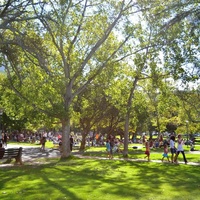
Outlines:
[[9, 87], [5, 74], [0, 79], [0, 107], [3, 109], [2, 122], [4, 130], [31, 130], [41, 127], [49, 129], [56, 125], [55, 119], [50, 119], [43, 113], [34, 110], [19, 98]]

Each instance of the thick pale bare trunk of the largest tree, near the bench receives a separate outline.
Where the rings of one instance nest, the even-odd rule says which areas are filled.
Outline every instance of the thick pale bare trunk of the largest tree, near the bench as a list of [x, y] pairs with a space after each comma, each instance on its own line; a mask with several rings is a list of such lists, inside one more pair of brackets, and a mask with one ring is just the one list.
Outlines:
[[71, 155], [70, 151], [70, 119], [62, 122], [62, 147], [61, 158], [68, 158]]

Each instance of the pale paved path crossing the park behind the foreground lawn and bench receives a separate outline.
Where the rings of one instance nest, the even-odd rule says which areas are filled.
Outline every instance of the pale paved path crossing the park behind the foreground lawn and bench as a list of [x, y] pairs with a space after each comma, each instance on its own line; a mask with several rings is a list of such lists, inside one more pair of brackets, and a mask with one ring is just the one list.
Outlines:
[[[19, 147], [18, 145], [11, 145], [8, 144], [7, 148]], [[191, 153], [199, 153], [198, 152], [191, 152]], [[79, 158], [87, 158], [87, 159], [101, 159], [106, 160], [108, 158], [103, 157], [96, 157], [96, 156], [83, 156], [78, 152], [73, 152], [73, 155]], [[37, 164], [37, 158], [58, 158], [60, 157], [60, 151], [58, 149], [46, 149], [44, 152], [40, 150], [40, 146], [23, 146], [22, 152], [22, 161], [26, 163], [34, 163]], [[135, 161], [135, 162], [148, 162], [146, 159], [125, 159], [125, 158], [113, 158], [113, 160], [128, 160], [128, 161]], [[161, 160], [151, 160], [151, 162], [155, 163], [162, 163]], [[163, 163], [168, 163], [167, 161]], [[179, 164], [185, 164], [184, 162], [179, 162]], [[0, 167], [8, 166], [10, 164], [1, 164]], [[200, 163], [188, 162], [188, 165], [197, 165], [200, 166]]]

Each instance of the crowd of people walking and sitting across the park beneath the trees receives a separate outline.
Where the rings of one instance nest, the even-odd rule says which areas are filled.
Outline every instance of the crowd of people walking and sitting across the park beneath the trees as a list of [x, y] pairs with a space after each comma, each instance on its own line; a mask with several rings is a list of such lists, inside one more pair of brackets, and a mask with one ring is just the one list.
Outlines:
[[[24, 134], [24, 133], [13, 133], [11, 135], [8, 135], [7, 133], [0, 134], [0, 143], [3, 147], [7, 146], [7, 141], [12, 140], [16, 142], [22, 142], [22, 141], [28, 141], [31, 143], [38, 142], [38, 144], [41, 145], [41, 151], [45, 150], [45, 143], [47, 140], [58, 143], [59, 146], [62, 145], [62, 136], [58, 133], [47, 133], [47, 132], [41, 132], [41, 133], [31, 133], [31, 134]], [[99, 144], [106, 146], [107, 156], [109, 159], [113, 158], [113, 154], [118, 152], [122, 153], [121, 145], [122, 141], [110, 134], [107, 137], [106, 143], [104, 143], [104, 137], [102, 135], [96, 135], [95, 141], [98, 141]], [[163, 148], [163, 154], [161, 157], [161, 160], [164, 161], [165, 159], [168, 160], [168, 162], [177, 163], [177, 159], [179, 154], [181, 153], [183, 156], [183, 160], [185, 164], [187, 164], [187, 159], [185, 156], [185, 152], [183, 149], [183, 145], [185, 141], [183, 140], [182, 136], [179, 134], [177, 136], [177, 140], [175, 141], [175, 135], [171, 135], [170, 138], [164, 139], [163, 135], [161, 134], [157, 139], [153, 140], [152, 137], [150, 137], [148, 140], [145, 135], [142, 136], [141, 142], [145, 146], [145, 157], [148, 161], [150, 161], [150, 151], [152, 148]], [[96, 144], [96, 142], [94, 142]], [[194, 150], [193, 143], [191, 143], [191, 151]], [[72, 135], [70, 136], [70, 150], [72, 151], [74, 145], [74, 138]], [[169, 154], [171, 154], [169, 156]]]

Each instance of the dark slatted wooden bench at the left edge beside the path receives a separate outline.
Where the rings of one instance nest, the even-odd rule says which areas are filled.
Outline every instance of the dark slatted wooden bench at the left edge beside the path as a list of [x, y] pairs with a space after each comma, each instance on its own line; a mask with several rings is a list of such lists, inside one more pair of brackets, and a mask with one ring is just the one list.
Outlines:
[[15, 163], [22, 165], [22, 147], [19, 148], [0, 148], [0, 159], [7, 159], [11, 161], [12, 158], [15, 158]]

